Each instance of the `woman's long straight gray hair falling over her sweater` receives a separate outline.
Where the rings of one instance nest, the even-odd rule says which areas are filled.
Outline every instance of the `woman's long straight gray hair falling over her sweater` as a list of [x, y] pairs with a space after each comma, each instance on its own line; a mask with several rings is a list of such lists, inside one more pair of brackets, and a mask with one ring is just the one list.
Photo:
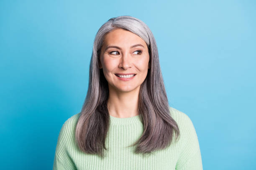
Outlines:
[[82, 110], [76, 125], [75, 138], [84, 153], [104, 157], [105, 138], [108, 133], [110, 115], [107, 108], [109, 96], [108, 82], [99, 68], [100, 51], [108, 32], [122, 28], [141, 37], [148, 46], [150, 68], [141, 84], [138, 112], [143, 122], [143, 135], [136, 143], [135, 153], [148, 154], [164, 149], [172, 142], [174, 132], [179, 136], [179, 128], [170, 115], [168, 99], [159, 64], [158, 49], [153, 33], [141, 20], [131, 16], [110, 18], [98, 30], [90, 61], [89, 85]]

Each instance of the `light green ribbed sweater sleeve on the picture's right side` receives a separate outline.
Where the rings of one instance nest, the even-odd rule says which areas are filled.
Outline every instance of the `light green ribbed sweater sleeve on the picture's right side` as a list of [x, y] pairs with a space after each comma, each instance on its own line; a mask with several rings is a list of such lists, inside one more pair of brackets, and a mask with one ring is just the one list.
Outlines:
[[195, 127], [190, 118], [184, 114], [181, 127], [183, 146], [176, 164], [176, 170], [202, 170], [202, 158]]

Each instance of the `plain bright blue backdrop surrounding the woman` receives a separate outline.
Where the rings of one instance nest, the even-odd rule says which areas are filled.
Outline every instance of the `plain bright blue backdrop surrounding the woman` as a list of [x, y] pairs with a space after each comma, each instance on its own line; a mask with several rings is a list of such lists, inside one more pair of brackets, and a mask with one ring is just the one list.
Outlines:
[[192, 120], [205, 170], [256, 169], [256, 1], [0, 1], [1, 169], [52, 169], [80, 112], [94, 37], [131, 15], [153, 32], [170, 106]]

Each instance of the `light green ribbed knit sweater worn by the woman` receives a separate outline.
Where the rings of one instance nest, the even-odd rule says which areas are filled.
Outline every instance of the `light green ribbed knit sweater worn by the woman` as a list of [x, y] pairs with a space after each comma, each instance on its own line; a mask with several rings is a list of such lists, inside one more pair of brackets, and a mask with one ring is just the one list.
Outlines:
[[[197, 134], [190, 118], [170, 107], [177, 122], [180, 139], [172, 141], [164, 150], [143, 157], [126, 147], [134, 143], [143, 132], [139, 115], [127, 118], [110, 116], [110, 128], [105, 140], [106, 157], [89, 155], [75, 143], [75, 127], [80, 113], [64, 122], [57, 141], [53, 170], [202, 170], [202, 158]], [[175, 138], [173, 138], [175, 139]]]

